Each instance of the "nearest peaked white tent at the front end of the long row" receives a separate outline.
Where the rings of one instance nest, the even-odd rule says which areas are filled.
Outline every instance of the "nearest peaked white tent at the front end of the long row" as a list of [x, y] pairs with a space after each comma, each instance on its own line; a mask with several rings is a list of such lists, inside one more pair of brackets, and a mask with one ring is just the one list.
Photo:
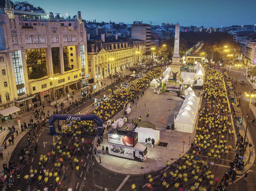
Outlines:
[[174, 120], [174, 127], [177, 128], [177, 131], [193, 133], [195, 119], [191, 117], [188, 112], [184, 112], [184, 115], [177, 115]]

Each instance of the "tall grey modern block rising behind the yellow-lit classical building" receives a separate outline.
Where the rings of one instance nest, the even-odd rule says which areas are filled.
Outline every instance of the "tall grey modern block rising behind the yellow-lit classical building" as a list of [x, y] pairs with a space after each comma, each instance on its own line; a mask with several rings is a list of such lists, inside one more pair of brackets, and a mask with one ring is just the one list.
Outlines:
[[146, 54], [151, 54], [151, 25], [142, 21], [134, 21], [131, 26], [131, 38], [146, 42]]

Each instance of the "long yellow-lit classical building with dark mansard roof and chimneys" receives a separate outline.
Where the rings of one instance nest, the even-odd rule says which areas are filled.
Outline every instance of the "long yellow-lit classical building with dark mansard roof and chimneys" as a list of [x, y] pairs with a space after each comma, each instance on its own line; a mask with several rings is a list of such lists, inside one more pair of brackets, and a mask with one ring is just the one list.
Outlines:
[[119, 73], [123, 68], [137, 65], [140, 57], [136, 53], [138, 47], [133, 39], [105, 39], [104, 34], [101, 37], [100, 40], [87, 40], [88, 73], [92, 77], [90, 83]]

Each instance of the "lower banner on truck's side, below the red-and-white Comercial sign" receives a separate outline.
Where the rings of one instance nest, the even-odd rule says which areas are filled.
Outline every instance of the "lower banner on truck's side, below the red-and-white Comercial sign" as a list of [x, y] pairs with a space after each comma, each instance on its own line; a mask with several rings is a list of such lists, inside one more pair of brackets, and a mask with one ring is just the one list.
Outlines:
[[109, 154], [133, 159], [133, 148], [130, 146], [109, 143]]

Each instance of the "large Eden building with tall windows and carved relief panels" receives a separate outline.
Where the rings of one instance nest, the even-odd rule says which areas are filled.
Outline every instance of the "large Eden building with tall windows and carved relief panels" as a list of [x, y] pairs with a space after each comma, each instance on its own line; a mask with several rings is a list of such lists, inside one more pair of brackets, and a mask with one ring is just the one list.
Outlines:
[[10, 76], [1, 98], [9, 93], [10, 102], [24, 112], [88, 82], [86, 30], [81, 12], [78, 16], [24, 19], [11, 11], [0, 14], [1, 67]]

